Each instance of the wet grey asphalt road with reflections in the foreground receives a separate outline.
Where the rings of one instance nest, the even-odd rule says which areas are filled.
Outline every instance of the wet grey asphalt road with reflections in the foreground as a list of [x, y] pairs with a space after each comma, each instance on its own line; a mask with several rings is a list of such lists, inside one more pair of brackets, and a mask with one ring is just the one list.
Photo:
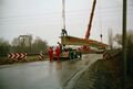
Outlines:
[[102, 55], [83, 55], [82, 59], [35, 62], [0, 66], [0, 89], [63, 89], [72, 78]]

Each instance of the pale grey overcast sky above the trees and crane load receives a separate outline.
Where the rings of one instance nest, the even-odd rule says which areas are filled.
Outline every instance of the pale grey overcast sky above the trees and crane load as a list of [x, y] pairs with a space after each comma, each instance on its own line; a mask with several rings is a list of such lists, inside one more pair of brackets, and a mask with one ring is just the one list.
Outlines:
[[[69, 35], [84, 37], [93, 0], [65, 0]], [[127, 30], [133, 30], [133, 0], [127, 0]], [[40, 36], [49, 45], [60, 41], [62, 0], [0, 0], [0, 37]], [[90, 38], [108, 43], [108, 30], [122, 33], [122, 0], [98, 0]]]

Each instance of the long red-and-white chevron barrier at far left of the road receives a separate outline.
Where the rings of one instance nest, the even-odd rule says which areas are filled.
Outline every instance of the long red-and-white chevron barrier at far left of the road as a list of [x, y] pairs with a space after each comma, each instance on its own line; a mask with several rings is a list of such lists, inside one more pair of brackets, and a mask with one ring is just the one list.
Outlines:
[[23, 59], [27, 57], [27, 53], [9, 53], [8, 58]]

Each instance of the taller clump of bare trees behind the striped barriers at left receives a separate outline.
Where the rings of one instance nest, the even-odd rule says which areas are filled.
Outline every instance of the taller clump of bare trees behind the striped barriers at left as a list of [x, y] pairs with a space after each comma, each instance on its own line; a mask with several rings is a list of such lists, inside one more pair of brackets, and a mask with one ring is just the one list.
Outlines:
[[45, 52], [48, 47], [47, 41], [37, 37], [32, 41], [32, 35], [20, 35], [12, 41], [12, 52], [24, 52], [28, 54], [38, 54]]

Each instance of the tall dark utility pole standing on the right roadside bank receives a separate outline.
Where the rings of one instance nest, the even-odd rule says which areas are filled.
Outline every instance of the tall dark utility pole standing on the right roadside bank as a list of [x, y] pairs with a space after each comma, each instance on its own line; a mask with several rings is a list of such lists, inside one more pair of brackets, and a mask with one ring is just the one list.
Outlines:
[[123, 0], [123, 35], [122, 35], [122, 44], [123, 44], [123, 71], [124, 71], [124, 89], [126, 89], [126, 47], [127, 47], [127, 41], [126, 41], [126, 0]]

